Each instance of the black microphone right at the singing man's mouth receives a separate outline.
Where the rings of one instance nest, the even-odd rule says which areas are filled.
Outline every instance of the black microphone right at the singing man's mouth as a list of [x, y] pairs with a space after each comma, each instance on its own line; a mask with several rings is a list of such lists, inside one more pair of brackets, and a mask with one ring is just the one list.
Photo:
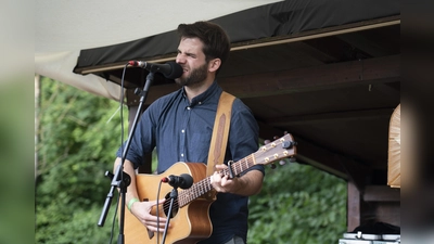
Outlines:
[[133, 67], [141, 67], [149, 72], [158, 72], [168, 79], [176, 79], [183, 73], [181, 65], [175, 62], [167, 62], [166, 64], [153, 64], [144, 61], [129, 61], [128, 64]]

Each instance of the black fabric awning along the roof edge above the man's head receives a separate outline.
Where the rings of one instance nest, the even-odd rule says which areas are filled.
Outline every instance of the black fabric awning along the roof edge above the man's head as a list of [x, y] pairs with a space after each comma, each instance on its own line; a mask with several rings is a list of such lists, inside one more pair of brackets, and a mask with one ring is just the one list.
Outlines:
[[[359, 0], [292, 0], [259, 5], [210, 20], [228, 33], [232, 47], [292, 38], [310, 30], [350, 28], [349, 24], [399, 15], [399, 2]], [[174, 27], [177, 25], [175, 24]], [[176, 30], [137, 40], [86, 49], [74, 72], [89, 74], [122, 68], [130, 60], [168, 61], [178, 47]]]

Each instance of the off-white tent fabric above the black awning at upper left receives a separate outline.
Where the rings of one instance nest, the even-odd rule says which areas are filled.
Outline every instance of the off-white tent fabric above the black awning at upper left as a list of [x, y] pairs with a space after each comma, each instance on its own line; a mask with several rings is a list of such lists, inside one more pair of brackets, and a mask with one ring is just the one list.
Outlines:
[[117, 44], [280, 0], [41, 0], [36, 3], [35, 72], [118, 100], [119, 87], [73, 73], [79, 51]]

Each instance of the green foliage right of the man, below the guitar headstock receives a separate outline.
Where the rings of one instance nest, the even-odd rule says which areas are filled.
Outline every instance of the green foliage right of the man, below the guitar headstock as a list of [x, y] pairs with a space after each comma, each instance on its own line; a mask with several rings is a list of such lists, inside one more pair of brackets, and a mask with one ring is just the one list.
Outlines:
[[346, 183], [307, 165], [267, 168], [248, 224], [250, 244], [337, 243], [346, 230]]

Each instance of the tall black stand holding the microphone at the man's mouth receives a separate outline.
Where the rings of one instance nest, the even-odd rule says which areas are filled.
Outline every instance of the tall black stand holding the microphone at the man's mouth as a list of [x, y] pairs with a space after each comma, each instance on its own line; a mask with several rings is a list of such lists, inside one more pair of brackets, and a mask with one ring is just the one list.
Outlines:
[[124, 172], [124, 162], [125, 162], [125, 157], [128, 153], [129, 146], [131, 144], [131, 139], [132, 139], [132, 136], [135, 134], [135, 131], [137, 128], [137, 123], [139, 121], [139, 118], [140, 118], [140, 112], [142, 111], [142, 106], [144, 104], [144, 101], [146, 100], [149, 88], [151, 87], [153, 81], [154, 81], [154, 73], [150, 72], [146, 76], [146, 81], [144, 84], [143, 90], [136, 88], [135, 93], [137, 95], [140, 95], [139, 108], [137, 110], [136, 117], [135, 117], [135, 120], [131, 126], [131, 131], [129, 133], [129, 138], [127, 140], [127, 143], [125, 144], [125, 149], [124, 149], [123, 156], [122, 156], [122, 163], [116, 168], [116, 172], [114, 176], [113, 176], [113, 174], [111, 174], [108, 171], [105, 172], [105, 176], [112, 178], [112, 183], [111, 183], [111, 189], [108, 191], [107, 197], [105, 198], [104, 207], [102, 209], [100, 220], [98, 221], [98, 226], [99, 227], [104, 226], [105, 218], [107, 216], [107, 211], [108, 211], [110, 205], [112, 203], [113, 192], [114, 192], [115, 188], [119, 188], [122, 204], [120, 204], [120, 216], [119, 216], [119, 235], [117, 239], [117, 244], [125, 243], [125, 235], [124, 235], [125, 198], [126, 198], [125, 196], [127, 193], [127, 188], [131, 182], [130, 176], [128, 174]]

